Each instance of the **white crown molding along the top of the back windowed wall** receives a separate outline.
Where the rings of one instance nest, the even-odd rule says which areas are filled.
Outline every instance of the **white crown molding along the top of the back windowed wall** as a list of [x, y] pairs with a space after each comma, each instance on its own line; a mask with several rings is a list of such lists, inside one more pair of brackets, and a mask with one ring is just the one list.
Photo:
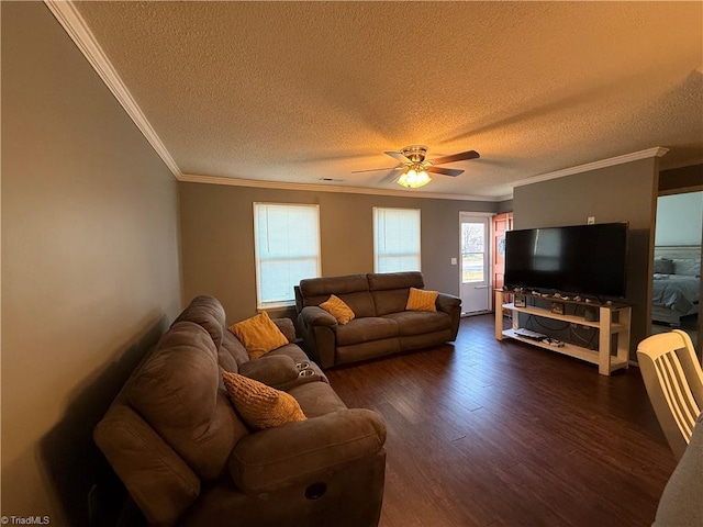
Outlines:
[[230, 187], [249, 187], [256, 189], [274, 189], [274, 190], [294, 190], [300, 192], [341, 192], [346, 194], [366, 194], [366, 195], [393, 195], [399, 198], [421, 198], [421, 199], [435, 199], [435, 200], [455, 200], [455, 201], [489, 201], [500, 202], [512, 200], [512, 195], [507, 197], [483, 197], [483, 195], [468, 195], [468, 194], [443, 194], [434, 192], [414, 192], [413, 190], [387, 190], [387, 189], [372, 189], [366, 187], [343, 187], [343, 186], [327, 186], [327, 184], [311, 184], [311, 183], [288, 183], [281, 181], [261, 181], [256, 179], [235, 179], [226, 178], [222, 176], [198, 176], [194, 173], [183, 173], [178, 178], [179, 181], [188, 183], [208, 183], [208, 184], [224, 184]]

